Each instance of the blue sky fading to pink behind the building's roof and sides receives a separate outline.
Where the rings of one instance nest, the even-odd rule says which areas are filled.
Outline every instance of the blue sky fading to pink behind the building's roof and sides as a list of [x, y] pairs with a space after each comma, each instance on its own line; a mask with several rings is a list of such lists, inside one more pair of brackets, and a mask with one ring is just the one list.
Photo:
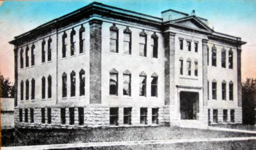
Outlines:
[[[0, 73], [14, 82], [14, 46], [8, 41], [45, 22], [56, 19], [94, 1], [4, 1], [0, 6]], [[174, 9], [208, 19], [214, 31], [241, 37], [242, 80], [256, 79], [256, 0], [196, 1], [96, 1], [114, 7], [161, 17], [161, 11]]]

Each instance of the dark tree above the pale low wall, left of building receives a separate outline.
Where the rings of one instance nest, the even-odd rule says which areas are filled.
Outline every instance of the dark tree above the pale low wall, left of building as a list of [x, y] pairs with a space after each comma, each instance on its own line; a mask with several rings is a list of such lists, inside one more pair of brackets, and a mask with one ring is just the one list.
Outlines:
[[9, 77], [4, 78], [0, 74], [1, 98], [14, 98], [14, 85], [11, 84]]

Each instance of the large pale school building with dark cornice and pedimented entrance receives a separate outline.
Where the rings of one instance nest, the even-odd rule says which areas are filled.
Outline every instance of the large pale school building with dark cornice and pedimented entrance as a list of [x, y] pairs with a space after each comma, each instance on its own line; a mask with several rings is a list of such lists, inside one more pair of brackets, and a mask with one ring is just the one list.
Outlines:
[[241, 38], [91, 3], [15, 37], [15, 125], [241, 123]]

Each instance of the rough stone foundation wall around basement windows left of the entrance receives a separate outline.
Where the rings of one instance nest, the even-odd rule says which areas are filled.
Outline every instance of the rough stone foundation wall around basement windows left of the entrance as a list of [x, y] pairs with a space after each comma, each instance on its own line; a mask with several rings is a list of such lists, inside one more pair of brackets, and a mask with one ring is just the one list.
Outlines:
[[[45, 108], [45, 123], [42, 123], [41, 108], [34, 109], [34, 123], [31, 123], [30, 109], [28, 109], [28, 122], [25, 122], [25, 109], [22, 109], [22, 122], [19, 121], [19, 109], [15, 109], [15, 127], [16, 128], [97, 128], [97, 127], [110, 127], [109, 123], [109, 107], [84, 107], [84, 125], [79, 125], [78, 107], [74, 107], [74, 124], [69, 124], [69, 108], [66, 107], [66, 124], [61, 124], [61, 108], [51, 107], [51, 123], [48, 123], [48, 109]], [[131, 111], [131, 125], [124, 124], [124, 107], [118, 109], [118, 126], [144, 126], [140, 123], [140, 107], [132, 107]], [[168, 125], [168, 106], [160, 107], [158, 111], [158, 125]], [[152, 107], [148, 107], [147, 124], [156, 125], [152, 123]], [[116, 126], [114, 126], [116, 127]]]

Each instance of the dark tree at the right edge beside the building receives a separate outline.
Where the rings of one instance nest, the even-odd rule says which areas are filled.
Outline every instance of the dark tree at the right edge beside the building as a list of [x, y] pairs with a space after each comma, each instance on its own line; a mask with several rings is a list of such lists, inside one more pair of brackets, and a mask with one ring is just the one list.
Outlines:
[[255, 124], [256, 79], [242, 83], [243, 124]]

